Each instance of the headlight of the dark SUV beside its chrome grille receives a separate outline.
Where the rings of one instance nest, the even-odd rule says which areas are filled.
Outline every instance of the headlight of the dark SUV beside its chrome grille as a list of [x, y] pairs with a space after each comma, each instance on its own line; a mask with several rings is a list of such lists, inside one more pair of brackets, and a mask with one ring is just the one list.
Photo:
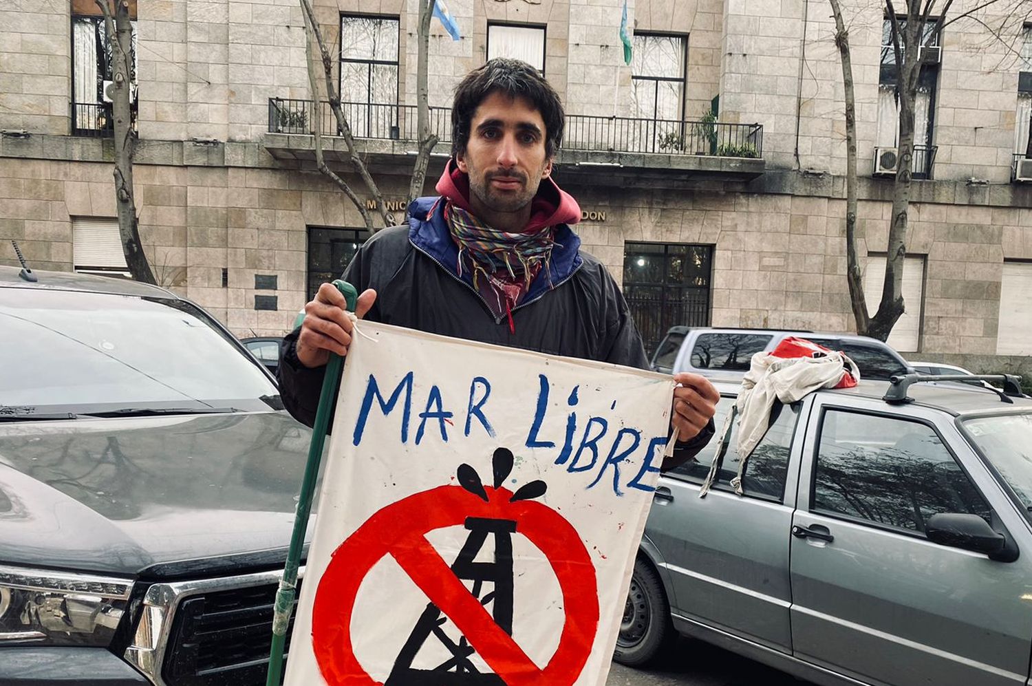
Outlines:
[[125, 579], [0, 566], [0, 646], [106, 646], [131, 591]]

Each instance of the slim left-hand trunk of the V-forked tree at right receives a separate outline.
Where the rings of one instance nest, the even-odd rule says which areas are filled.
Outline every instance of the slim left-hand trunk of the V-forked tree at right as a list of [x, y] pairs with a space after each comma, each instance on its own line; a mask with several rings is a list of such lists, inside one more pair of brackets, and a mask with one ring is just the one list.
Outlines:
[[[845, 258], [849, 304], [857, 323], [857, 333], [867, 335], [870, 317], [864, 296], [860, 259], [857, 255], [857, 98], [853, 93], [852, 60], [849, 55], [849, 32], [842, 20], [838, 0], [829, 0], [835, 15], [835, 44], [842, 62], [842, 84], [845, 88]], [[804, 18], [805, 21], [805, 18]]]

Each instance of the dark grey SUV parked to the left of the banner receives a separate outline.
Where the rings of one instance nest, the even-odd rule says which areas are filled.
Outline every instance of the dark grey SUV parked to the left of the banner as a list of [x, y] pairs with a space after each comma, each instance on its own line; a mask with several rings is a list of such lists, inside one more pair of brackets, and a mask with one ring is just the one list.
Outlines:
[[221, 324], [0, 266], [0, 684], [263, 684], [309, 429]]

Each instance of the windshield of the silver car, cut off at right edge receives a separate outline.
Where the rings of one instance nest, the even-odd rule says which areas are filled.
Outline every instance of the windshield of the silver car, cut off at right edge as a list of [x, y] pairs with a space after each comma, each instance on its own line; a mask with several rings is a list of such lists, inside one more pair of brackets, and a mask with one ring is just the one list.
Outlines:
[[1032, 512], [1032, 413], [969, 419], [964, 428]]

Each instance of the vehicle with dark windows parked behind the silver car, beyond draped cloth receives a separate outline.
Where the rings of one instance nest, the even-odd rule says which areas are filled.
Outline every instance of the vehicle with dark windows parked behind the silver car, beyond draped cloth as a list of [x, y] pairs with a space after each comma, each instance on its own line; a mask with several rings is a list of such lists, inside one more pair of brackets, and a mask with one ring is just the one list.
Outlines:
[[891, 379], [910, 371], [895, 350], [868, 336], [771, 329], [719, 329], [673, 326], [652, 355], [652, 368], [664, 373], [694, 371], [707, 377], [741, 378], [755, 353], [771, 352], [788, 336], [799, 336], [845, 353], [863, 379]]

